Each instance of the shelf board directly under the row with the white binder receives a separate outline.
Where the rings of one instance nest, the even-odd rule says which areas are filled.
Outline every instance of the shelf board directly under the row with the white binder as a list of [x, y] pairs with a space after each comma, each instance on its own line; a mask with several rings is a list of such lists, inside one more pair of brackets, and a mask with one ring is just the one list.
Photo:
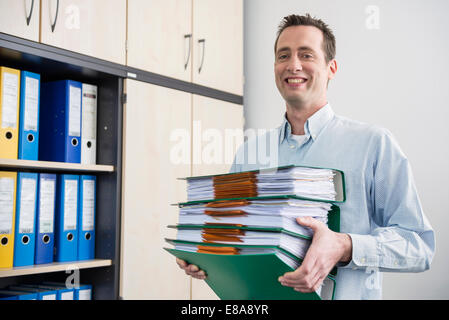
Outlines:
[[34, 169], [43, 171], [114, 172], [114, 166], [110, 165], [1, 159], [1, 158], [0, 158], [0, 168], [13, 168], [18, 170]]

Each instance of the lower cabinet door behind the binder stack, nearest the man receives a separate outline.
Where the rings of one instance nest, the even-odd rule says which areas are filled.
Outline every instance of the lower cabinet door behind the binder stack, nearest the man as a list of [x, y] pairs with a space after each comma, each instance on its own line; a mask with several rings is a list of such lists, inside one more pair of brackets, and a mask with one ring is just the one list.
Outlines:
[[[243, 142], [243, 106], [193, 96], [192, 175], [229, 172]], [[192, 299], [218, 299], [203, 280], [192, 279]]]

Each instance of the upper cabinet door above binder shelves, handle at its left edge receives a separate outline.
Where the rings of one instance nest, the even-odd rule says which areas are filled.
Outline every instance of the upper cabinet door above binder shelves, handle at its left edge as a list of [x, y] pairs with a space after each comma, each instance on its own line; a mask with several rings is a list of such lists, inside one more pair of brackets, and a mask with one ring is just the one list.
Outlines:
[[43, 43], [126, 63], [126, 0], [42, 0], [41, 20]]

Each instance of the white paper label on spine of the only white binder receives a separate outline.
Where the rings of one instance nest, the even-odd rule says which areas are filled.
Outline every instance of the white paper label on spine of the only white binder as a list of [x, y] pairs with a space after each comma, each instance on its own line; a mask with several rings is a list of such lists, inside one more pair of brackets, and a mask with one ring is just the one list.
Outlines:
[[83, 139], [95, 140], [97, 136], [97, 87], [83, 85]]

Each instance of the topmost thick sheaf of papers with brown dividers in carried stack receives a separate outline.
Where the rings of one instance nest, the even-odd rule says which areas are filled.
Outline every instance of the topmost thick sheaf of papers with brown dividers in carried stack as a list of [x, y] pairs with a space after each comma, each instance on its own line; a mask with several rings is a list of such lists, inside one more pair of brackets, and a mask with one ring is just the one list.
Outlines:
[[295, 195], [308, 199], [336, 200], [332, 169], [282, 167], [217, 176], [187, 178], [187, 199], [224, 199]]

